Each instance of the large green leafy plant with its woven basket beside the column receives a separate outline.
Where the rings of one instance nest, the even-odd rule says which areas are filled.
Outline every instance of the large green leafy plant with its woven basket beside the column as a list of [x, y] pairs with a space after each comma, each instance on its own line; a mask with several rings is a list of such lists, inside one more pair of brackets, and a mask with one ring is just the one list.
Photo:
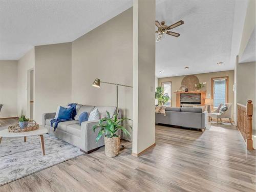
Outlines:
[[98, 136], [96, 137], [96, 142], [98, 142], [98, 140], [104, 135], [105, 155], [108, 157], [115, 157], [119, 153], [120, 135], [117, 134], [118, 130], [122, 130], [125, 136], [131, 136], [126, 128], [122, 126], [125, 119], [127, 118], [118, 119], [117, 115], [114, 115], [111, 118], [110, 113], [106, 111], [106, 117], [100, 119], [99, 124], [93, 126], [94, 132], [97, 127], [100, 127]]

